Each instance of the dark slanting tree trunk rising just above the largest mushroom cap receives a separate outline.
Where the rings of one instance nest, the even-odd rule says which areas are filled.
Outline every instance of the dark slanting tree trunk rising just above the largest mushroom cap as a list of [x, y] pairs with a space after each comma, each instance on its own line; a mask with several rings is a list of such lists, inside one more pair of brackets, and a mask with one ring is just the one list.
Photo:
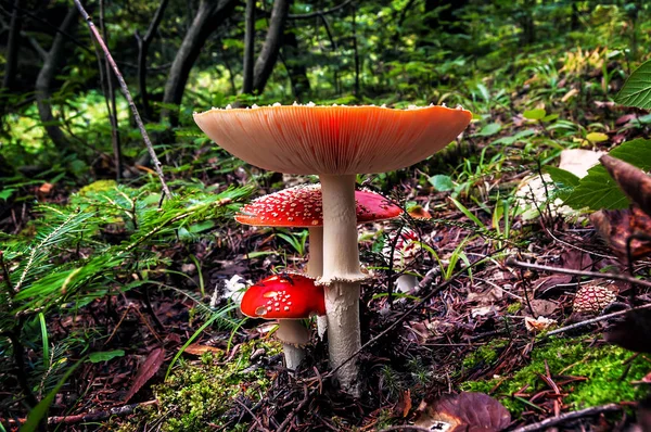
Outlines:
[[273, 66], [276, 66], [276, 62], [278, 61], [282, 34], [288, 21], [288, 14], [290, 13], [290, 1], [276, 0], [273, 2], [267, 37], [265, 38], [265, 43], [255, 62], [254, 68], [253, 91], [258, 94], [265, 90], [265, 86], [267, 86], [267, 81], [271, 77], [271, 72], [273, 72]]

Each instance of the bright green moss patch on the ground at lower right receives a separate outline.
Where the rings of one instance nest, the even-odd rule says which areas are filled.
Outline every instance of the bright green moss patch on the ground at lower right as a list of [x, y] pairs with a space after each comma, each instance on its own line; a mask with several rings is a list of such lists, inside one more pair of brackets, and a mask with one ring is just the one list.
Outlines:
[[[561, 386], [563, 398], [572, 409], [634, 401], [642, 394], [642, 389], [631, 384], [649, 372], [651, 365], [641, 357], [626, 363], [633, 353], [614, 345], [589, 346], [592, 339], [554, 339], [534, 347], [531, 363], [509, 377], [495, 377], [492, 380], [469, 381], [461, 384], [468, 392], [489, 393], [513, 415], [535, 409], [526, 398], [514, 397], [522, 393], [533, 395], [548, 386], [540, 379], [545, 374], [545, 363], [549, 365], [554, 382], [567, 377], [584, 377], [586, 381], [575, 381]], [[465, 363], [465, 361], [464, 361]], [[525, 385], [528, 387], [522, 390]], [[493, 392], [493, 393], [492, 393]]]

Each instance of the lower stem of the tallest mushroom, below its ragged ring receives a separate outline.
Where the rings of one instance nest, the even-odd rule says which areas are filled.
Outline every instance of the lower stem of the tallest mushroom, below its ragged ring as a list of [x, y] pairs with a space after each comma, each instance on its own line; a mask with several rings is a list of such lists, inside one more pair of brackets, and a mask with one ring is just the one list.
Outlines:
[[356, 393], [354, 381], [357, 380], [357, 358], [350, 359], [350, 357], [361, 348], [359, 283], [332, 282], [326, 287], [326, 310], [330, 367], [336, 369], [341, 366], [336, 377], [342, 386]]

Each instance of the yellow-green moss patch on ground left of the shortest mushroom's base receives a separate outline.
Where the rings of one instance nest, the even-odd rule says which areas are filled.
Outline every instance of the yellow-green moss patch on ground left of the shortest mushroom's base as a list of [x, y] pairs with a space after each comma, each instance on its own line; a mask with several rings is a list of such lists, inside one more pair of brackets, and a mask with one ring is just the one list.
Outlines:
[[241, 345], [235, 358], [226, 359], [225, 353], [206, 353], [199, 364], [183, 364], [163, 384], [154, 387], [159, 402], [155, 417], [163, 418], [163, 431], [200, 431], [206, 424], [221, 424], [233, 399], [243, 394], [254, 403], [269, 387], [270, 378], [265, 368], [244, 370], [251, 366], [251, 354], [264, 348], [267, 356], [281, 351], [277, 342], [252, 341]]

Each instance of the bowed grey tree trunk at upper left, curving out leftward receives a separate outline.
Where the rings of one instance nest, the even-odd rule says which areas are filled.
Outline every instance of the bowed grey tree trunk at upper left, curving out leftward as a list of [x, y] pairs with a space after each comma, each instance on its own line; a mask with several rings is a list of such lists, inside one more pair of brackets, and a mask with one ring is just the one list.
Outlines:
[[64, 34], [69, 33], [77, 24], [77, 9], [71, 8], [65, 20], [61, 24], [60, 31], [56, 33], [52, 41], [52, 47], [36, 79], [36, 104], [41, 123], [44, 125], [48, 136], [54, 142], [54, 145], [64, 151], [68, 147], [68, 139], [56, 125], [56, 119], [52, 114], [52, 84], [59, 66], [65, 60], [63, 48], [65, 46]]

